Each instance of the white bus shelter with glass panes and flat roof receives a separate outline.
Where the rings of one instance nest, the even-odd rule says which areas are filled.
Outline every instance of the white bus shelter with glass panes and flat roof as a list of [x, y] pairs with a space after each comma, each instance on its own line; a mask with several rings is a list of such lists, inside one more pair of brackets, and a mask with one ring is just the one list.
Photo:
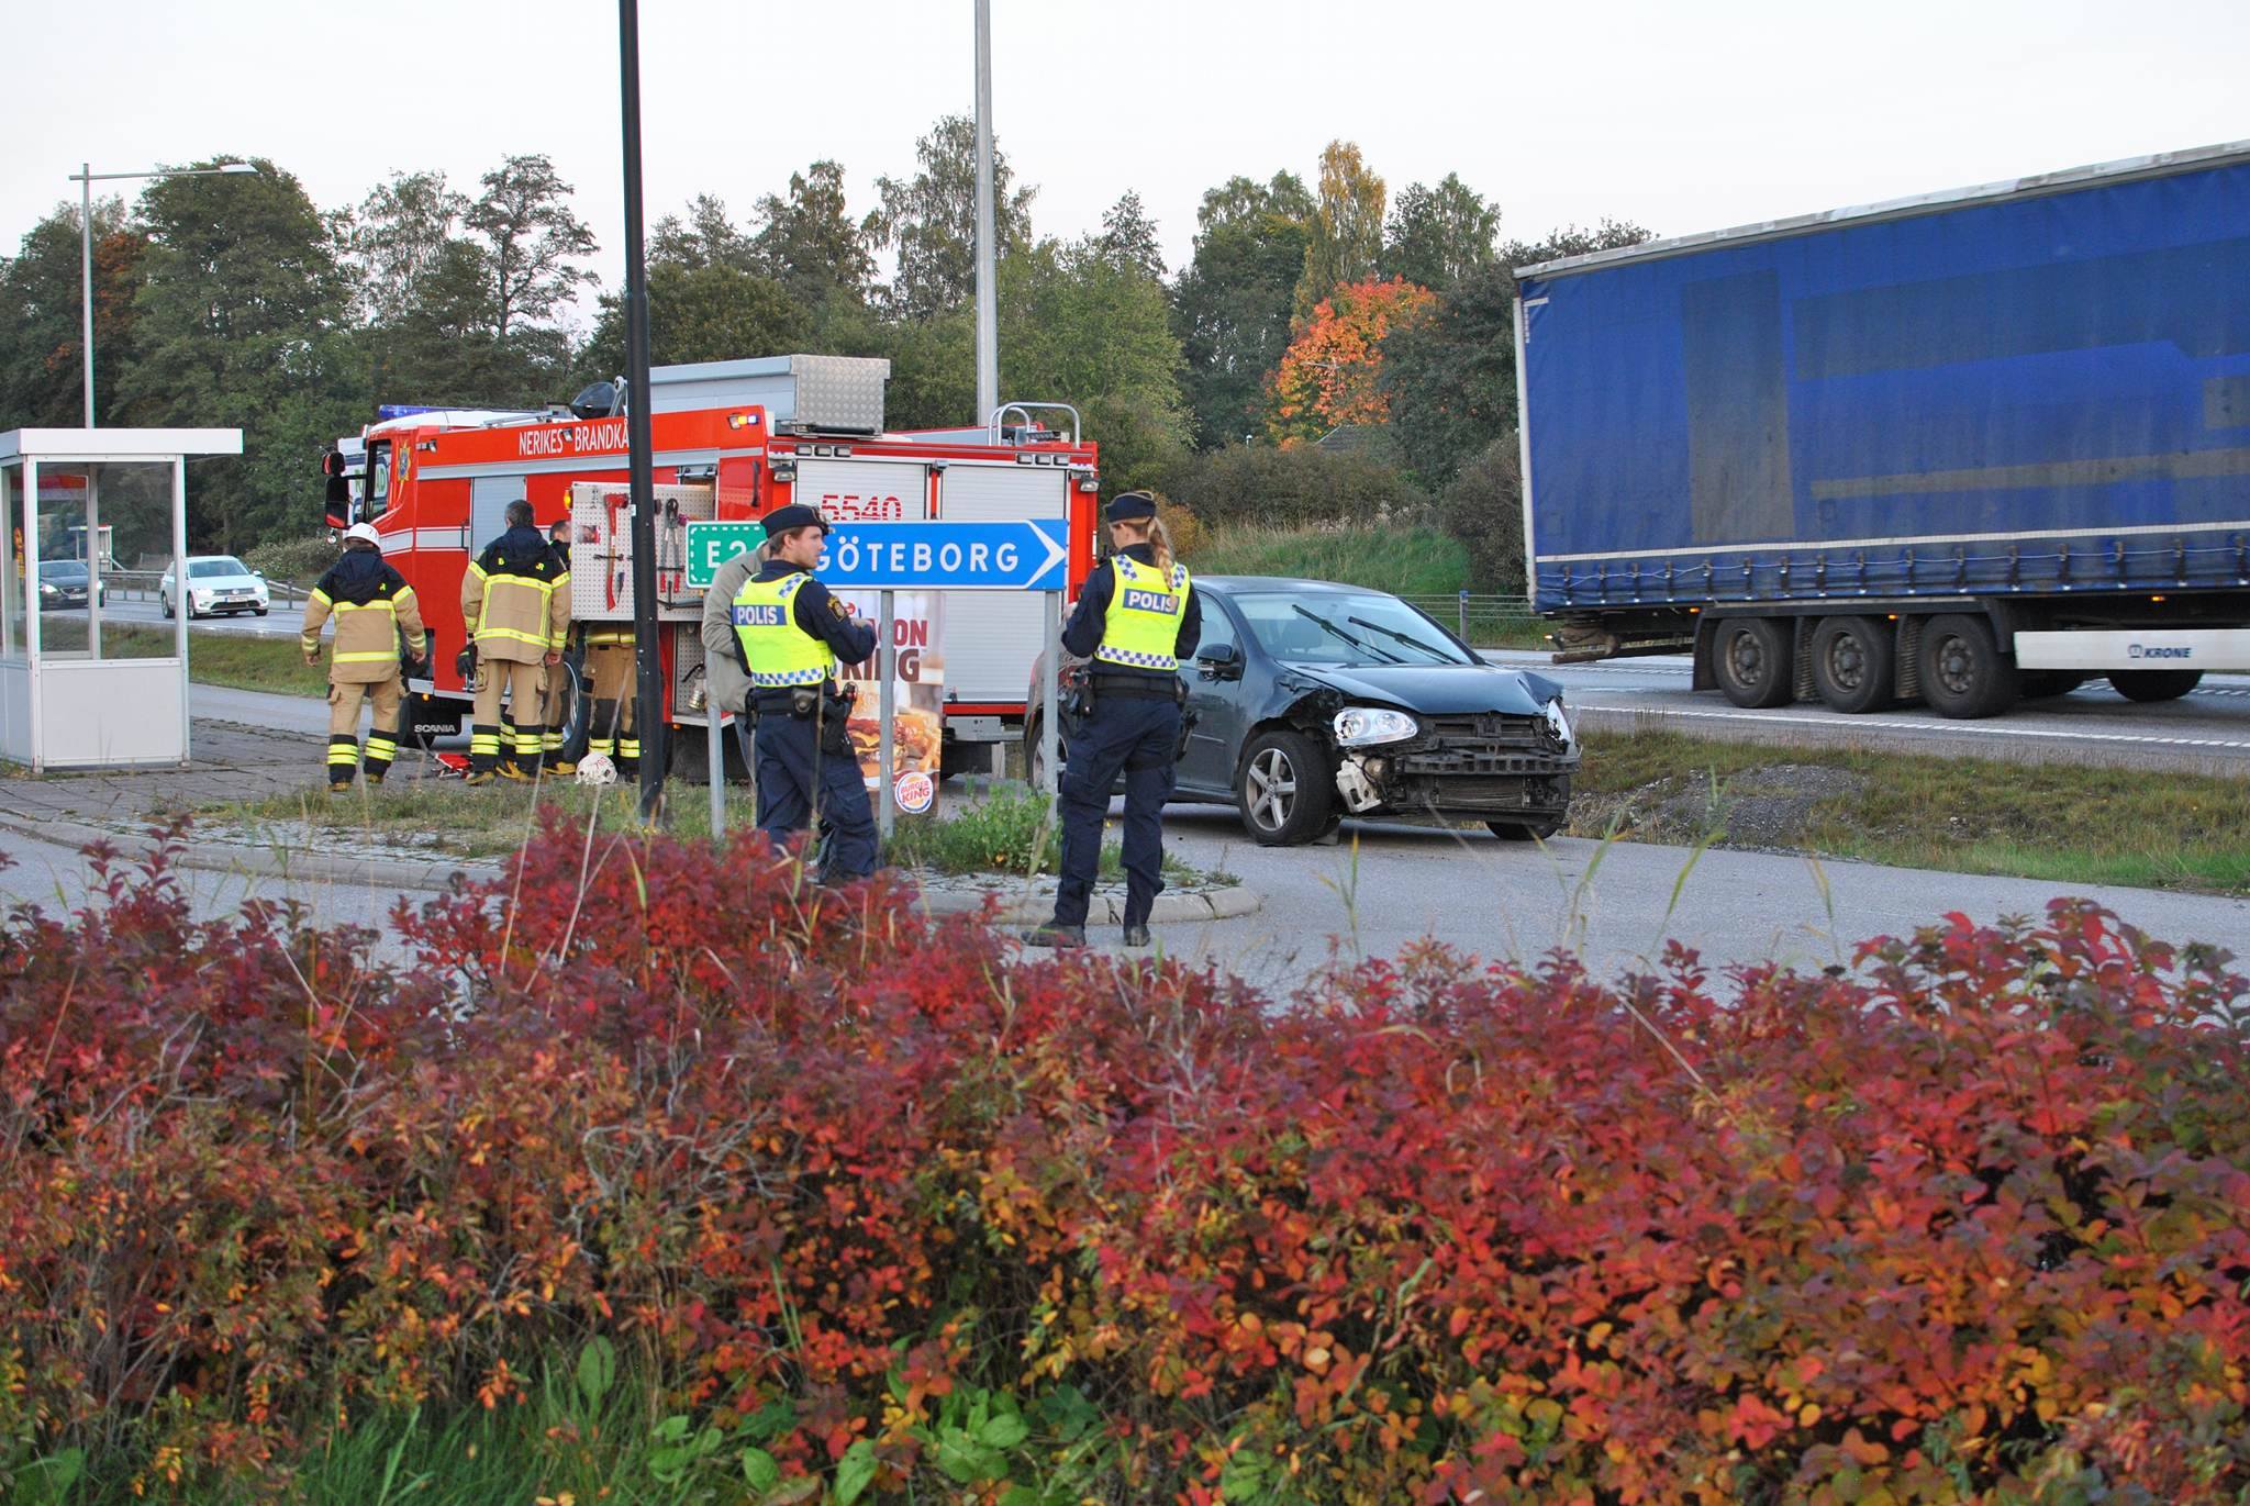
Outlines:
[[187, 763], [187, 615], [124, 599], [187, 554], [187, 461], [241, 452], [236, 428], [0, 434], [0, 756]]

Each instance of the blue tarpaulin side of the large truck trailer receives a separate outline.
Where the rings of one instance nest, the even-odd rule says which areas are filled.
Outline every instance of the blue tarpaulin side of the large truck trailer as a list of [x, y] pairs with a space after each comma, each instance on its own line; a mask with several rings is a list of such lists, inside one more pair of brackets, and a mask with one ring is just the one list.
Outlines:
[[2250, 149], [1521, 297], [1544, 610], [2250, 572]]

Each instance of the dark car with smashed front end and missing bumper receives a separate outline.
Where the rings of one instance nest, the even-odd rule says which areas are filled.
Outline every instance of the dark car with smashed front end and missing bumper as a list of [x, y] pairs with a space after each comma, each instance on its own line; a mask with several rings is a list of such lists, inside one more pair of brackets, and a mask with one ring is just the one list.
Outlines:
[[[1174, 799], [1231, 804], [1267, 846], [1346, 817], [1476, 819], [1546, 837], [1580, 750], [1552, 680], [1485, 664], [1438, 621], [1361, 585], [1197, 576], [1204, 639], [1179, 666], [1195, 727]], [[1026, 768], [1044, 673], [1033, 671]]]

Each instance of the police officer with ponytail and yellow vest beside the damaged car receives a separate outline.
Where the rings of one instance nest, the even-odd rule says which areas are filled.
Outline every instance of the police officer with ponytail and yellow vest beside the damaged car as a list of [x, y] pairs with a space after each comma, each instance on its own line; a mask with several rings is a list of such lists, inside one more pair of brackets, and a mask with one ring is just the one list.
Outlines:
[[1102, 853], [1109, 788], [1125, 772], [1125, 945], [1148, 945], [1148, 914], [1163, 889], [1163, 801], [1179, 759], [1179, 662], [1195, 657], [1204, 612], [1188, 567], [1156, 520], [1156, 500], [1127, 491], [1109, 502], [1116, 554], [1087, 579], [1062, 646], [1091, 655], [1094, 711], [1071, 727], [1062, 770], [1062, 882], [1055, 918], [1033, 945], [1084, 945], [1087, 905]]

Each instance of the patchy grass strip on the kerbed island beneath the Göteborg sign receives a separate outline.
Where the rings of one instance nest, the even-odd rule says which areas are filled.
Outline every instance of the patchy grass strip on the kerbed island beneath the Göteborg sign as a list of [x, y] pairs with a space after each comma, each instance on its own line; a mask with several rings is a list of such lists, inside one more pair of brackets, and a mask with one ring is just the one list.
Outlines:
[[[256, 801], [202, 806], [198, 824], [248, 828], [263, 833], [272, 846], [308, 849], [360, 842], [430, 853], [432, 858], [504, 858], [520, 849], [538, 828], [540, 806], [562, 810], [574, 824], [592, 817], [601, 831], [637, 831], [634, 790], [612, 786], [596, 790], [574, 781], [542, 781], [538, 797], [520, 783], [493, 783], [470, 790], [457, 779], [414, 779], [414, 763], [403, 763], [392, 783], [380, 790], [353, 786], [351, 795], [331, 797], [308, 788], [295, 795], [270, 795]], [[670, 786], [668, 831], [680, 837], [711, 835], [711, 799], [702, 786]], [[1046, 799], [1035, 795], [958, 797], [938, 804], [936, 822], [902, 822], [884, 860], [896, 867], [918, 867], [934, 873], [1053, 873], [1060, 867], [1062, 840], [1046, 822]], [[729, 786], [727, 831], [745, 833], [756, 822], [749, 790]], [[1044, 835], [1044, 844], [1042, 844]], [[1174, 885], [1238, 885], [1233, 873], [1204, 869], [1166, 858], [1166, 878]], [[1120, 849], [1102, 842], [1100, 876], [1123, 878]]]

